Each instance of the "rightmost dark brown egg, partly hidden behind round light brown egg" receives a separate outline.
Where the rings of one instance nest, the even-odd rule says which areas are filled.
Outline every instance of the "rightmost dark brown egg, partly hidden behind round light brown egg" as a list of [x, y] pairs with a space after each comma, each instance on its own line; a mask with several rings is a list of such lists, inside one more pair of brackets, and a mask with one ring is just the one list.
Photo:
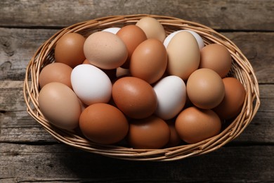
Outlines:
[[242, 83], [234, 77], [223, 78], [223, 84], [225, 84], [225, 96], [213, 110], [221, 119], [227, 120], [240, 113], [246, 92]]

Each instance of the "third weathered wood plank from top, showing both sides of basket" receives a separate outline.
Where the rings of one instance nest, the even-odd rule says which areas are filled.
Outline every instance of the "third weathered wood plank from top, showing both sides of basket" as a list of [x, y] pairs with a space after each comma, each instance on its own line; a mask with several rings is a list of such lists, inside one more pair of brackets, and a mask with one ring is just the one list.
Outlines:
[[[15, 143], [56, 142], [27, 114], [22, 81], [0, 81], [0, 141]], [[274, 85], [261, 84], [261, 107], [235, 143], [274, 143]], [[16, 97], [14, 97], [16, 96]]]

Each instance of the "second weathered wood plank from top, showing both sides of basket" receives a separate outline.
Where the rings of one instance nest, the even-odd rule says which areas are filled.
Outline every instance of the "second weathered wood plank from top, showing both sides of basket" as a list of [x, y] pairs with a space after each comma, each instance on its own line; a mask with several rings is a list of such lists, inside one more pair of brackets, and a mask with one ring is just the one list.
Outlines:
[[[0, 28], [0, 80], [24, 80], [30, 58], [58, 30]], [[260, 83], [274, 83], [274, 32], [221, 32], [249, 59]], [[267, 44], [266, 44], [267, 43]]]

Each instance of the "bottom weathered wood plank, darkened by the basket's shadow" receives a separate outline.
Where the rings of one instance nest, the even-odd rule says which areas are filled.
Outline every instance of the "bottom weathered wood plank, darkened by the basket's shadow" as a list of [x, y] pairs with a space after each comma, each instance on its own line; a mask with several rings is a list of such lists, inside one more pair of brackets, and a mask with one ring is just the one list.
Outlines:
[[117, 160], [63, 144], [1, 144], [0, 177], [17, 182], [273, 182], [273, 151], [274, 146], [224, 147], [159, 163]]

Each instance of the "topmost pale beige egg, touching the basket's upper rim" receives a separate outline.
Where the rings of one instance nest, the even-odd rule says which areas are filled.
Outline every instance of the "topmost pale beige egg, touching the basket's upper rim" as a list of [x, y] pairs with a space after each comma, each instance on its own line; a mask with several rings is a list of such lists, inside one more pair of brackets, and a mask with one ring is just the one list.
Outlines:
[[140, 27], [148, 39], [155, 38], [160, 42], [164, 42], [166, 32], [164, 27], [159, 21], [152, 17], [144, 17], [137, 21], [136, 25]]

